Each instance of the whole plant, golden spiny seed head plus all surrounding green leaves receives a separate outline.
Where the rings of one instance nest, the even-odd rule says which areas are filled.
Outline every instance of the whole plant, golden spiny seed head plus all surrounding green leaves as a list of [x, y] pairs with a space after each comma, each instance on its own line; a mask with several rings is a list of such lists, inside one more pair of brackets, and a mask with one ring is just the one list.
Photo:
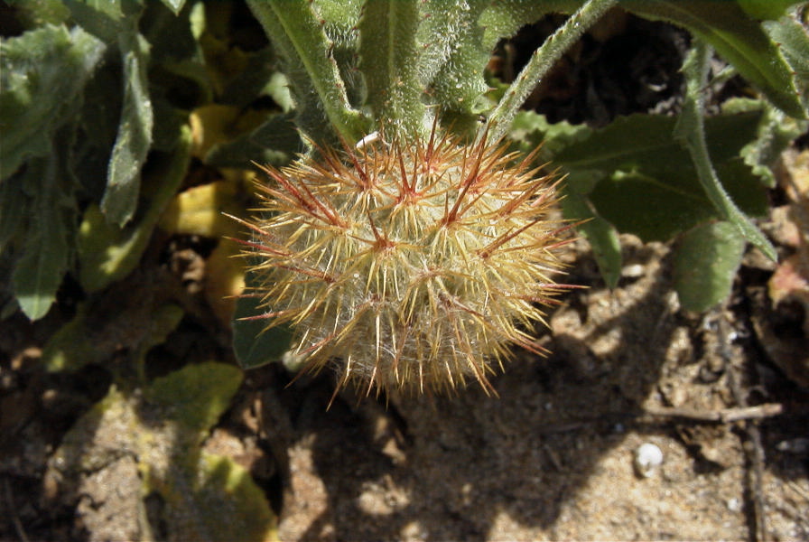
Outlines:
[[[260, 191], [279, 214], [250, 227], [261, 259], [248, 260], [256, 272], [244, 279], [261, 295], [236, 307], [243, 368], [280, 359], [309, 332], [315, 365], [331, 354], [362, 357], [367, 368], [357, 374], [369, 385], [447, 388], [477, 378], [486, 386], [508, 341], [537, 348], [527, 328], [542, 318], [533, 302], [562, 287], [548, 284], [558, 265], [544, 251], [559, 248], [562, 220], [590, 241], [609, 286], [620, 276], [618, 232], [674, 241], [681, 304], [704, 310], [729, 294], [748, 242], [775, 256], [748, 217], [767, 211], [771, 166], [806, 129], [809, 38], [805, 3], [792, 0], [249, 0], [252, 15], [237, 2], [201, 0], [5, 4], [0, 320], [42, 319], [70, 285], [63, 297], [75, 311], [59, 304], [52, 322], [70, 321], [45, 346], [43, 365], [104, 365], [114, 385], [65, 439], [57, 455], [75, 461], [60, 475], [129, 462], [133, 481], [143, 481], [139, 502], [159, 494], [166, 518], [198, 519], [191, 527], [208, 537], [274, 537], [269, 505], [246, 473], [201, 449], [239, 371], [183, 359], [195, 363], [150, 379], [145, 366], [198, 316], [159, 278], [153, 253], [165, 238], [218, 239], [206, 302], [228, 321], [232, 307], [221, 299], [237, 294], [244, 269], [225, 239], [237, 237], [238, 222], [222, 212], [252, 224], [252, 190], [233, 168], [303, 154], [280, 173], [268, 167], [274, 183]], [[592, 128], [521, 111], [553, 64], [615, 8], [692, 34], [679, 116]], [[488, 73], [497, 42], [556, 13], [571, 16], [512, 83]], [[242, 33], [237, 19], [258, 32]], [[750, 91], [708, 115], [711, 50], [730, 64], [716, 79], [738, 74]], [[548, 161], [563, 181], [535, 175]], [[562, 220], [545, 214], [553, 190], [563, 193]], [[407, 198], [418, 201], [396, 207]], [[340, 221], [358, 229], [341, 237]], [[441, 234], [452, 222], [455, 233]], [[409, 288], [414, 278], [420, 286]], [[293, 282], [305, 284], [285, 289]], [[397, 288], [403, 304], [387, 304]], [[357, 294], [366, 306], [343, 301]], [[271, 298], [284, 307], [256, 306]], [[276, 322], [265, 318], [284, 309]], [[430, 320], [432, 336], [423, 332]], [[413, 322], [422, 333], [397, 367]], [[96, 430], [114, 445], [93, 441]], [[88, 471], [84, 463], [98, 457]], [[222, 501], [211, 493], [236, 502], [219, 507], [215, 525], [207, 512]], [[133, 532], [149, 537], [148, 528]]]

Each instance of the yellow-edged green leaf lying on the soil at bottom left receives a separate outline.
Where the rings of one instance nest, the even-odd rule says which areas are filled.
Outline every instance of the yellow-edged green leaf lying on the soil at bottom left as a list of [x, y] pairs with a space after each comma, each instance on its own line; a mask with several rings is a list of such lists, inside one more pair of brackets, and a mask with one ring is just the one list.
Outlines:
[[[163, 497], [162, 519], [175, 537], [275, 539], [274, 514], [249, 473], [229, 458], [200, 453], [197, 447], [230, 405], [241, 380], [235, 367], [202, 363], [157, 378], [144, 390], [144, 406], [173, 430], [172, 463], [163, 466], [144, 453], [149, 463], [144, 465], [144, 485]], [[164, 445], [166, 432], [154, 433], [157, 444]]]

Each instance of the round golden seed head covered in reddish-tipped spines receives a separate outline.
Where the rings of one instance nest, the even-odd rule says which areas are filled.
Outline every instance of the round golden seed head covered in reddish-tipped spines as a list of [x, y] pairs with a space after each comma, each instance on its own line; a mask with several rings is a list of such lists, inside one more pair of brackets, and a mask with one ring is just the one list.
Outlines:
[[554, 185], [504, 146], [428, 141], [320, 149], [258, 186], [248, 224], [269, 326], [291, 324], [308, 369], [340, 384], [442, 390], [488, 377], [563, 285]]

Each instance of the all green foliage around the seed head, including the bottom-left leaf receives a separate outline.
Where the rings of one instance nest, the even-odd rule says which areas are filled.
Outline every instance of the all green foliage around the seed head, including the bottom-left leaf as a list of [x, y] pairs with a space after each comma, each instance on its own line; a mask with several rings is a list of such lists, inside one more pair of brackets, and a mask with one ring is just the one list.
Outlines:
[[[19, 309], [40, 319], [64, 277], [78, 279], [86, 298], [51, 337], [46, 367], [123, 358], [129, 369], [114, 369], [117, 388], [71, 430], [60, 454], [75, 465], [101, 453], [104, 467], [114, 454], [99, 438], [123, 435], [143, 474], [142, 496], [160, 494], [170, 528], [190, 529], [183, 536], [274, 536], [247, 473], [200, 448], [239, 371], [205, 363], [151, 383], [144, 375], [147, 352], [188, 307], [138, 263], [160, 224], [172, 232], [161, 215], [193, 184], [192, 160], [220, 173], [251, 161], [280, 165], [306, 150], [302, 141], [353, 145], [377, 130], [407, 139], [437, 115], [460, 135], [507, 134], [526, 153], [542, 144], [537, 164], [552, 160], [566, 175], [563, 212], [590, 241], [609, 286], [620, 276], [623, 232], [674, 241], [675, 288], [693, 311], [727, 297], [746, 243], [774, 257], [749, 217], [767, 211], [771, 166], [807, 128], [809, 35], [791, 9], [805, 3], [246, 2], [266, 41], [239, 41], [228, 26], [237, 3], [201, 0], [23, 0], [5, 13], [24, 32], [0, 38], [0, 317]], [[519, 112], [554, 62], [616, 5], [693, 35], [682, 114], [592, 129]], [[551, 13], [572, 16], [512, 84], [492, 91], [486, 69], [497, 42]], [[707, 117], [711, 51], [758, 98]], [[235, 185], [221, 193], [238, 194]], [[231, 271], [222, 275], [238, 275]], [[251, 319], [260, 310], [249, 296], [236, 307], [233, 348], [246, 369], [280, 359], [290, 343], [288, 329], [262, 332], [265, 322]], [[118, 388], [141, 388], [142, 398]], [[154, 444], [172, 439], [172, 450]]]

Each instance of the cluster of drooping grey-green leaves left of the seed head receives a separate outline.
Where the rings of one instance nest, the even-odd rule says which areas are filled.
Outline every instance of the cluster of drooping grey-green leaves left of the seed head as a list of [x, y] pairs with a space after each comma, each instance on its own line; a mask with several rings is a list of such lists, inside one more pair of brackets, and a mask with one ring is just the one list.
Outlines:
[[[0, 248], [12, 294], [3, 313], [19, 307], [36, 320], [66, 273], [92, 292], [137, 264], [190, 163], [182, 126], [191, 109], [214, 98], [291, 104], [271, 48], [219, 41], [211, 21], [228, 5], [43, 0], [14, 9], [28, 30], [0, 42]], [[244, 167], [300, 148], [283, 111], [256, 117], [259, 126], [220, 142], [211, 160]]]

